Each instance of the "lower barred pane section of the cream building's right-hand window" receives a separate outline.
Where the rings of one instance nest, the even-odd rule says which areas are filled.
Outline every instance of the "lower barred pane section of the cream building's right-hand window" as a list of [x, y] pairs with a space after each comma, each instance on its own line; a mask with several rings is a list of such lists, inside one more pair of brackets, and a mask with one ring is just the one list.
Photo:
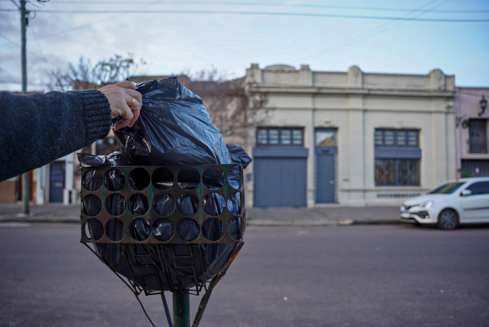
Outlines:
[[419, 186], [420, 160], [376, 159], [376, 186]]

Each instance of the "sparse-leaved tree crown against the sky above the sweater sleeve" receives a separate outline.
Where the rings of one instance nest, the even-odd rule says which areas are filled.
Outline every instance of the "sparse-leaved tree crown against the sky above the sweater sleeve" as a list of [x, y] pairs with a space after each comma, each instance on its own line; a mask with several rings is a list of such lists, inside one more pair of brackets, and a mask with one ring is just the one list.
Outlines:
[[67, 70], [48, 71], [48, 88], [51, 91], [98, 88], [125, 80], [134, 73], [134, 70], [145, 64], [142, 59], [136, 63], [130, 55], [124, 58], [116, 54], [109, 60], [100, 60], [96, 64], [80, 57], [78, 64], [69, 63]]

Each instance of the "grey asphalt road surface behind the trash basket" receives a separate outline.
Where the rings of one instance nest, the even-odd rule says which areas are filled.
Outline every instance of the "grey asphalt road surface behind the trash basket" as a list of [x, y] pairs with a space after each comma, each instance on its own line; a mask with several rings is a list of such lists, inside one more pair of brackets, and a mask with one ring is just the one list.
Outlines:
[[[151, 326], [79, 233], [0, 224], [1, 327]], [[167, 326], [161, 299], [141, 300]], [[250, 227], [200, 326], [487, 327], [489, 228]]]

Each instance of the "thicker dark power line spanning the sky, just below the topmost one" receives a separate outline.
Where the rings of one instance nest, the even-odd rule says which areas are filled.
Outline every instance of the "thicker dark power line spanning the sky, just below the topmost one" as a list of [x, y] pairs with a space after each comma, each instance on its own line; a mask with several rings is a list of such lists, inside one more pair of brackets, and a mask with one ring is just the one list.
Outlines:
[[[0, 11], [17, 11], [15, 9], [0, 9]], [[352, 18], [387, 21], [410, 22], [445, 22], [445, 23], [486, 23], [489, 19], [452, 19], [452, 18], [412, 18], [367, 15], [340, 15], [319, 13], [295, 13], [273, 11], [233, 11], [233, 10], [37, 10], [39, 13], [59, 14], [225, 14], [225, 15], [255, 15], [255, 16], [302, 16], [302, 17], [328, 17]]]

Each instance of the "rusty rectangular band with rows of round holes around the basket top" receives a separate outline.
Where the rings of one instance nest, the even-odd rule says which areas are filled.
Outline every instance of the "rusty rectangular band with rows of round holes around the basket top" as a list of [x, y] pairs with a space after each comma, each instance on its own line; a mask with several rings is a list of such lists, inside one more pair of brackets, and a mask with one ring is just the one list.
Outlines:
[[[139, 186], [131, 186], [130, 178], [134, 171], [138, 169], [138, 175], [140, 181]], [[141, 171], [142, 169], [142, 171]], [[159, 170], [158, 170], [159, 169]], [[163, 189], [162, 187], [158, 187], [157, 183], [155, 183], [155, 172], [161, 171], [161, 169], [167, 169], [173, 175], [173, 183], [170, 180], [170, 185], [168, 189]], [[210, 189], [204, 186], [202, 182], [202, 174], [205, 174], [208, 169], [213, 170], [214, 172], [217, 170], [221, 170], [223, 176], [225, 176], [225, 180], [222, 182], [222, 187], [218, 189]], [[113, 170], [119, 171], [124, 175], [124, 185], [118, 190], [111, 190], [108, 187], [106, 175]], [[198, 178], [200, 179], [200, 183], [193, 189], [188, 188], [188, 181], [178, 181], [178, 174], [182, 171], [191, 171], [195, 170], [195, 173], [198, 174]], [[229, 180], [229, 176], [231, 171], [233, 171], [232, 176], [236, 176], [232, 181]], [[116, 172], [117, 173], [117, 172]], [[147, 173], [147, 180], [141, 178], [141, 176]], [[81, 210], [81, 222], [82, 222], [82, 243], [149, 243], [149, 244], [200, 244], [200, 243], [238, 243], [242, 238], [242, 234], [244, 232], [244, 191], [243, 191], [243, 169], [241, 165], [237, 164], [223, 164], [223, 165], [196, 165], [196, 166], [116, 166], [116, 167], [86, 167], [82, 168], [82, 180], [85, 179], [86, 174], [100, 174], [103, 178], [103, 183], [101, 183], [98, 189], [87, 189], [87, 185], [82, 183], [82, 190], [80, 192], [80, 196], [82, 199], [82, 210]], [[196, 175], [197, 176], [197, 175]], [[198, 180], [199, 180], [198, 179]], [[224, 178], [223, 178], [224, 179]], [[146, 183], [147, 182], [147, 183]], [[231, 182], [231, 183], [230, 183]], [[145, 185], [147, 184], [147, 185]], [[234, 187], [233, 187], [234, 186]], [[89, 187], [90, 188], [90, 187]], [[209, 215], [204, 206], [205, 199], [211, 193], [215, 193], [218, 195], [214, 196], [222, 196], [225, 200], [225, 208], [223, 208], [222, 213], [218, 216]], [[129, 200], [134, 195], [143, 195], [149, 202], [149, 210], [146, 213], [136, 216], [131, 212], [131, 208], [129, 205]], [[158, 196], [166, 196], [167, 194], [174, 202], [174, 210], [168, 215], [160, 215], [155, 210], [155, 198]], [[195, 214], [190, 216], [186, 216], [181, 214], [178, 211], [178, 199], [184, 195], [195, 196], [194, 199], [198, 200], [199, 208], [196, 210]], [[115, 216], [109, 212], [107, 207], [108, 199], [111, 196], [122, 196], [126, 203], [126, 208], [124, 212], [118, 216]], [[100, 201], [100, 212], [96, 215], [93, 213], [88, 214], [87, 210], [83, 209], [84, 201], [88, 201], [88, 197], [91, 197], [91, 200], [98, 198]], [[95, 200], [96, 201], [96, 200]], [[230, 206], [232, 204], [232, 206]], [[233, 208], [230, 210], [229, 208]], [[237, 209], [235, 209], [237, 208]], [[183, 211], [183, 210], [182, 210]], [[122, 239], [110, 239], [107, 233], [101, 235], [98, 239], [90, 238], [90, 235], [86, 233], [86, 224], [90, 219], [95, 219], [100, 222], [104, 227], [107, 227], [109, 221], [112, 219], [119, 220], [122, 224], [124, 224], [126, 228], [126, 234]], [[148, 235], [148, 238], [144, 241], [137, 240], [131, 233], [129, 233], [131, 229], [131, 225], [134, 223], [136, 219], [142, 219], [151, 227], [152, 232]], [[155, 237], [153, 233], [155, 224], [159, 219], [166, 219], [173, 226], [174, 234], [170, 239], [161, 240]], [[185, 220], [191, 219], [195, 221], [196, 226], [199, 228], [199, 234], [195, 239], [192, 240], [184, 240], [177, 233], [179, 224]], [[224, 233], [222, 237], [218, 240], [209, 240], [204, 237], [202, 234], [202, 225], [206, 223], [207, 220], [210, 219], [218, 219], [223, 228]], [[188, 221], [187, 221], [188, 223]], [[235, 235], [229, 235], [228, 227], [230, 224], [238, 223], [240, 226], [239, 230], [241, 231], [241, 235], [236, 237]], [[104, 228], [105, 230], [105, 228]], [[234, 236], [235, 238], [231, 237]]]

